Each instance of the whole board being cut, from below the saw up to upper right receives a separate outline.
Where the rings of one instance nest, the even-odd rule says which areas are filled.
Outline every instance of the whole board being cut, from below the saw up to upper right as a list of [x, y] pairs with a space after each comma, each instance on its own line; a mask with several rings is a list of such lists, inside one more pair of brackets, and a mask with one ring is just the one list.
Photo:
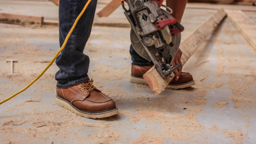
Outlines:
[[[182, 64], [186, 64], [187, 60], [197, 50], [197, 48], [203, 43], [203, 41], [210, 35], [213, 30], [219, 25], [219, 23], [226, 16], [223, 9], [220, 9], [206, 21], [204, 21], [197, 29], [192, 32], [180, 45], [182, 56]], [[174, 75], [174, 74], [173, 74]], [[173, 76], [174, 77], [174, 76]], [[170, 83], [171, 78], [167, 76], [163, 79], [158, 73], [155, 66], [153, 66], [147, 73], [143, 75], [144, 80], [149, 84], [149, 87], [157, 95], [165, 90], [165, 87]]]

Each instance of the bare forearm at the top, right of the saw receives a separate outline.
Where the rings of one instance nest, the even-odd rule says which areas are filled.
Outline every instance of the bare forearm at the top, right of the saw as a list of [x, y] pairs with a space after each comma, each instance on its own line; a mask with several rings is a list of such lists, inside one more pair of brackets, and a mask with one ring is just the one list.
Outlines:
[[187, 0], [166, 0], [166, 6], [170, 7], [173, 11], [171, 16], [173, 16], [180, 23], [186, 5]]

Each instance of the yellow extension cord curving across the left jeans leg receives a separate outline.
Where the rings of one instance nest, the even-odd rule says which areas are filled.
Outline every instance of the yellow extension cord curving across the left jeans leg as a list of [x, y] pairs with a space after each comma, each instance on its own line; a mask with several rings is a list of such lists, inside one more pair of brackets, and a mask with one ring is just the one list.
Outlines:
[[47, 67], [45, 69], [43, 69], [43, 71], [41, 72], [40, 75], [38, 75], [34, 80], [32, 80], [26, 87], [24, 87], [23, 89], [21, 89], [20, 91], [16, 92], [15, 94], [11, 95], [10, 97], [6, 98], [5, 100], [1, 101], [0, 104], [4, 103], [5, 101], [10, 100], [11, 98], [13, 98], [14, 96], [20, 94], [21, 92], [27, 90], [27, 88], [29, 88], [34, 82], [36, 82], [43, 74], [44, 72], [53, 64], [53, 62], [55, 61], [55, 59], [57, 58], [57, 56], [59, 55], [59, 53], [63, 50], [63, 48], [65, 47], [66, 43], [68, 42], [69, 36], [71, 35], [71, 33], [73, 32], [78, 20], [80, 19], [80, 17], [83, 15], [83, 13], [85, 12], [85, 9], [87, 8], [87, 6], [89, 5], [89, 3], [91, 2], [91, 0], [88, 0], [85, 4], [85, 7], [83, 8], [83, 10], [80, 12], [79, 16], [77, 16], [72, 28], [70, 29], [67, 37], [65, 38], [65, 41], [63, 43], [63, 45], [61, 46], [61, 48], [59, 49], [59, 51], [55, 54], [54, 58], [52, 59], [52, 61], [50, 62], [50, 64], [47, 65]]

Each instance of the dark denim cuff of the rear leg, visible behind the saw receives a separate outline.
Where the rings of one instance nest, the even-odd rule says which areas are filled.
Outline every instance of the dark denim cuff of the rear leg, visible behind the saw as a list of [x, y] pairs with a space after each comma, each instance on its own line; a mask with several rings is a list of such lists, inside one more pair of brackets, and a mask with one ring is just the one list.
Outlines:
[[137, 66], [149, 66], [154, 65], [152, 61], [148, 61], [147, 59], [142, 58], [133, 48], [133, 46], [130, 46], [130, 54], [132, 56], [132, 64]]

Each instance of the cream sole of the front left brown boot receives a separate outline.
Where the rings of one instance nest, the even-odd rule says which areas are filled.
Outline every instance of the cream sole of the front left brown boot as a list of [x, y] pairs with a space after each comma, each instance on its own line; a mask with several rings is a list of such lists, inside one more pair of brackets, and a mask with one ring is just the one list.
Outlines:
[[104, 118], [104, 117], [110, 117], [113, 115], [116, 115], [118, 113], [118, 109], [113, 108], [111, 110], [107, 110], [104, 112], [85, 112], [83, 110], [80, 110], [79, 108], [75, 107], [73, 104], [71, 104], [69, 101], [65, 100], [64, 98], [56, 95], [55, 97], [56, 104], [59, 105], [60, 107], [64, 107], [68, 109], [71, 112], [74, 112], [75, 114], [81, 116], [81, 117], [86, 117], [86, 118]]

